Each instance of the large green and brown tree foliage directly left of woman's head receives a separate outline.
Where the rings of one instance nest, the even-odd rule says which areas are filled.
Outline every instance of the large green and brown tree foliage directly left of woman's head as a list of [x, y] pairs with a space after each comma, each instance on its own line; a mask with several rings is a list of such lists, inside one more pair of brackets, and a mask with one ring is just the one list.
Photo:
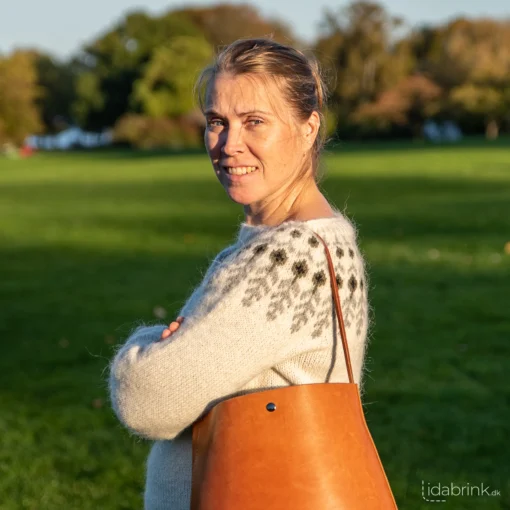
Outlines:
[[84, 48], [80, 61], [88, 73], [78, 81], [77, 120], [83, 127], [100, 129], [125, 113], [174, 116], [189, 112], [192, 78], [212, 58], [211, 46], [248, 33], [272, 33], [277, 39], [293, 41], [283, 24], [264, 19], [247, 5], [184, 8], [155, 17], [128, 14]]

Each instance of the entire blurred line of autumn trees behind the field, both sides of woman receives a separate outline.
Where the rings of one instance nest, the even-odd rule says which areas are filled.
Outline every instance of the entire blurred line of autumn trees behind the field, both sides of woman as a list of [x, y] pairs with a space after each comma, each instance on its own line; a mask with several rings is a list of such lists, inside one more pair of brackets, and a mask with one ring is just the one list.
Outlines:
[[66, 62], [38, 50], [0, 55], [0, 142], [69, 125], [137, 147], [200, 144], [192, 86], [222, 45], [266, 37], [311, 51], [331, 95], [328, 133], [420, 137], [428, 119], [496, 137], [510, 128], [510, 21], [459, 18], [407, 29], [375, 2], [325, 10], [304, 44], [249, 5], [127, 14]]

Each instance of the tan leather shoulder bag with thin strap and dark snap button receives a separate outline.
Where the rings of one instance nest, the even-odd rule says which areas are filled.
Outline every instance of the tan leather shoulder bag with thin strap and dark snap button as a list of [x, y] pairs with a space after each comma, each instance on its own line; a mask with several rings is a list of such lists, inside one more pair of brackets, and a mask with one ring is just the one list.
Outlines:
[[324, 240], [348, 383], [224, 400], [193, 425], [191, 510], [387, 510], [397, 505], [354, 383]]

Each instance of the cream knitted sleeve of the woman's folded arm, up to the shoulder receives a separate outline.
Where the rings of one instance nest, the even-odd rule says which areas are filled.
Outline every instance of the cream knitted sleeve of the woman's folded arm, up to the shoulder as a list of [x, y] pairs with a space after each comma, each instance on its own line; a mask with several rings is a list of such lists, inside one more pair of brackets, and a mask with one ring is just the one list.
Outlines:
[[165, 326], [141, 328], [112, 362], [113, 408], [136, 434], [173, 439], [296, 355], [299, 336], [313, 337], [319, 303], [331, 314], [324, 247], [306, 229], [279, 228], [215, 261], [177, 332], [155, 342]]

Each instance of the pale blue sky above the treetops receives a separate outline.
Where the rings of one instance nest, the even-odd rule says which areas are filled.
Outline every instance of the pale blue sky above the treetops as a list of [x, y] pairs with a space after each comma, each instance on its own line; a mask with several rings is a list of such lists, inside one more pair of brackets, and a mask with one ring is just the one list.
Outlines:
[[[111, 28], [128, 11], [141, 9], [157, 15], [176, 7], [217, 3], [217, 0], [0, 0], [0, 54], [9, 53], [15, 47], [30, 47], [66, 59]], [[317, 37], [318, 23], [325, 8], [337, 10], [348, 4], [344, 0], [256, 0], [248, 3], [258, 7], [264, 16], [285, 21], [306, 42]], [[379, 3], [391, 14], [404, 18], [410, 27], [443, 23], [461, 15], [510, 20], [509, 0], [382, 0]]]

